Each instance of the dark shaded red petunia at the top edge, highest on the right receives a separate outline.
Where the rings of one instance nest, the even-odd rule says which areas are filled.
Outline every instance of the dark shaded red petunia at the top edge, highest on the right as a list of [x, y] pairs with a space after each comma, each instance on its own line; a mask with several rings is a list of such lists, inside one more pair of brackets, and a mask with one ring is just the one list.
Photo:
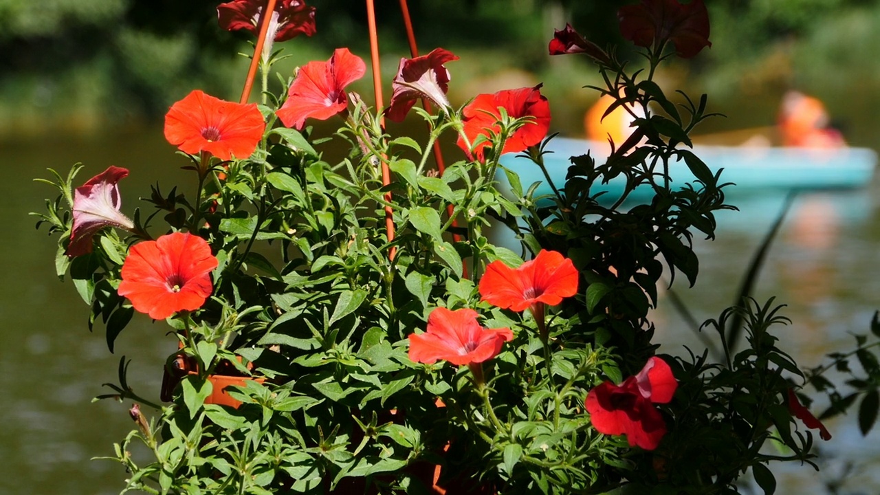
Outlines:
[[676, 53], [691, 58], [709, 42], [709, 14], [703, 0], [680, 4], [678, 0], [642, 0], [641, 4], [620, 7], [620, 33], [640, 47], [659, 47], [664, 41], [675, 44]]

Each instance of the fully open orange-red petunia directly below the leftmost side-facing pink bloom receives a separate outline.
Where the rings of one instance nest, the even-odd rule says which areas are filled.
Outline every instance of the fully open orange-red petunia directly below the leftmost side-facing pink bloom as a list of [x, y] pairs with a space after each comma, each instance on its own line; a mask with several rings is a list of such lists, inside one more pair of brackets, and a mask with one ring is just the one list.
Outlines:
[[122, 264], [119, 295], [153, 320], [202, 307], [211, 295], [217, 259], [208, 242], [191, 233], [171, 233], [131, 247]]

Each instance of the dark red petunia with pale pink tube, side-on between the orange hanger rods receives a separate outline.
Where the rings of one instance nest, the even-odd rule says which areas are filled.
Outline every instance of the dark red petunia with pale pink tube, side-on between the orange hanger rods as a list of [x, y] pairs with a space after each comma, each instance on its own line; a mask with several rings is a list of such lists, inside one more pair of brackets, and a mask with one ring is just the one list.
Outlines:
[[444, 109], [449, 107], [446, 92], [450, 77], [444, 63], [453, 60], [458, 60], [458, 56], [443, 48], [436, 48], [428, 55], [401, 58], [392, 82], [391, 105], [385, 115], [394, 122], [403, 122], [415, 100], [420, 98], [428, 98]]

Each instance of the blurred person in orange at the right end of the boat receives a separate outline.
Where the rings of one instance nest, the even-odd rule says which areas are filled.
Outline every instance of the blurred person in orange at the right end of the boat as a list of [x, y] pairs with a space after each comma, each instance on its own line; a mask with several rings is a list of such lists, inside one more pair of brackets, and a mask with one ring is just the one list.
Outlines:
[[840, 148], [847, 145], [831, 126], [825, 105], [803, 92], [789, 91], [782, 97], [779, 130], [783, 146]]

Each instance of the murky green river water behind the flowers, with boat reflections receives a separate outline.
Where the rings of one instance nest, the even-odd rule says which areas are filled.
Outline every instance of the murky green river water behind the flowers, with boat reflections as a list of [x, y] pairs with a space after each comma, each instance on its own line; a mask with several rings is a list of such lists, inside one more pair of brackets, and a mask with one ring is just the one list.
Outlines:
[[[0, 212], [8, 226], [0, 244], [7, 260], [0, 284], [0, 494], [97, 495], [118, 493], [126, 477], [120, 465], [93, 457], [113, 454], [113, 443], [132, 428], [128, 405], [101, 401], [101, 383], [115, 382], [121, 356], [132, 358], [130, 384], [148, 398], [158, 396], [161, 368], [174, 339], [162, 323], [136, 316], [116, 342], [106, 348], [103, 328], [87, 329], [89, 308], [73, 285], [55, 277], [55, 238], [34, 230], [28, 211], [42, 211], [51, 188], [33, 182], [47, 177], [47, 167], [62, 174], [82, 161], [77, 184], [106, 166], [125, 166], [121, 182], [123, 211], [136, 197], [147, 196], [150, 183], [193, 183], [180, 166], [184, 159], [165, 143], [160, 127], [114, 137], [70, 137], [0, 143], [7, 178], [0, 182]], [[193, 186], [194, 187], [194, 186]], [[788, 304], [792, 324], [779, 329], [782, 344], [804, 366], [814, 366], [828, 351], [852, 346], [847, 332], [865, 333], [880, 308], [880, 208], [876, 183], [847, 191], [803, 193], [796, 198], [761, 272], [756, 297], [772, 295]], [[766, 229], [783, 203], [781, 194], [731, 195], [740, 211], [719, 216], [715, 241], [697, 240], [700, 277], [693, 289], [677, 284], [700, 321], [717, 317], [733, 302], [740, 277]], [[148, 210], [149, 204], [142, 204]], [[682, 285], [683, 286], [683, 285]], [[666, 296], [654, 313], [661, 351], [683, 352], [695, 337]], [[862, 439], [855, 417], [831, 423], [833, 440], [819, 447], [826, 459], [821, 473], [808, 466], [777, 468], [778, 493], [829, 493], [825, 484], [846, 477], [840, 493], [876, 493], [880, 449], [876, 435]], [[847, 471], [847, 463], [854, 462]]]

